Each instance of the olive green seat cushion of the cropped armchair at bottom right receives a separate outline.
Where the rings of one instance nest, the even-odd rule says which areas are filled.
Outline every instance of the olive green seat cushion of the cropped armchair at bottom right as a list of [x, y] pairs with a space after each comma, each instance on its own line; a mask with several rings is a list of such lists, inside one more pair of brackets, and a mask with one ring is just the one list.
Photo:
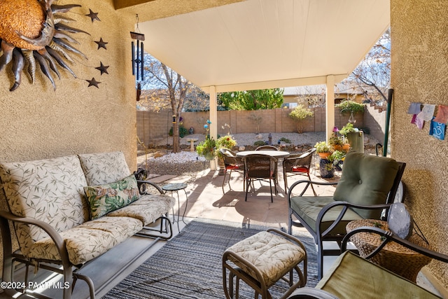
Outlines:
[[350, 251], [337, 258], [316, 288], [344, 299], [439, 298]]

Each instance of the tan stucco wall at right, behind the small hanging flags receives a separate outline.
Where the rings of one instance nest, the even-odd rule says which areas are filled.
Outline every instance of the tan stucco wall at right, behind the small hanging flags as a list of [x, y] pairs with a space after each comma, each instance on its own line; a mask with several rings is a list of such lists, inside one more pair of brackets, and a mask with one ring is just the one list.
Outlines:
[[[410, 102], [448, 105], [448, 13], [446, 0], [391, 0], [392, 73], [395, 90], [391, 118], [393, 158], [407, 163], [406, 202], [430, 245], [448, 254], [448, 139], [430, 137], [410, 124]], [[448, 266], [431, 263], [442, 285]]]

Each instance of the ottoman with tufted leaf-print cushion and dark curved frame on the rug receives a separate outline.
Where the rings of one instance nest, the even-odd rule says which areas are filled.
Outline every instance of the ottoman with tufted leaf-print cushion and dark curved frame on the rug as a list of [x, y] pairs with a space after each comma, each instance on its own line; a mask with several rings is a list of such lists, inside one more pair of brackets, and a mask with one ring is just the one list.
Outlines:
[[[303, 272], [299, 268], [302, 262]], [[293, 270], [298, 275], [295, 283]], [[286, 278], [288, 273], [289, 278]], [[239, 279], [255, 290], [255, 298], [261, 294], [262, 299], [271, 298], [268, 288], [276, 281], [288, 281], [290, 288], [281, 296], [286, 298], [295, 288], [304, 286], [307, 282], [307, 251], [299, 239], [280, 230], [270, 228], [265, 232], [258, 232], [230, 246], [223, 254], [223, 287], [226, 298], [238, 298]]]

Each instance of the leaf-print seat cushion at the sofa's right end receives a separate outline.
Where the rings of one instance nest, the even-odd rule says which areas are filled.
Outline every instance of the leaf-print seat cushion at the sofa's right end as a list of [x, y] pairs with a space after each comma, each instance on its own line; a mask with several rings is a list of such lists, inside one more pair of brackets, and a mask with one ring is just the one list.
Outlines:
[[165, 215], [174, 206], [174, 197], [160, 195], [140, 195], [140, 199], [132, 204], [112, 211], [107, 216], [127, 216], [139, 219], [144, 225], [156, 221], [160, 216]]

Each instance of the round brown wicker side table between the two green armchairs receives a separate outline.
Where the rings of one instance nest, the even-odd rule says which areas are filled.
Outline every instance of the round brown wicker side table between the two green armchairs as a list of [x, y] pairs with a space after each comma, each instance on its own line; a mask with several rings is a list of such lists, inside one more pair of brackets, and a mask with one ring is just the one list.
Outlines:
[[[360, 228], [361, 226], [377, 227], [389, 231], [386, 221], [374, 219], [351, 221], [346, 225], [346, 231], [351, 232], [351, 230]], [[380, 235], [375, 233], [359, 232], [356, 235], [351, 236], [350, 241], [355, 244], [360, 256], [365, 257], [374, 251], [383, 240]], [[413, 234], [409, 237], [408, 241], [428, 248], [428, 244], [426, 244], [426, 242], [424, 242], [417, 234]], [[431, 258], [428, 258], [428, 256], [423, 256], [423, 254], [412, 251], [395, 242], [389, 242], [383, 249], [381, 249], [381, 251], [379, 251], [379, 253], [370, 258], [372, 263], [385, 267], [413, 282], [416, 282], [417, 274], [419, 274], [424, 265], [428, 265], [430, 260]]]

